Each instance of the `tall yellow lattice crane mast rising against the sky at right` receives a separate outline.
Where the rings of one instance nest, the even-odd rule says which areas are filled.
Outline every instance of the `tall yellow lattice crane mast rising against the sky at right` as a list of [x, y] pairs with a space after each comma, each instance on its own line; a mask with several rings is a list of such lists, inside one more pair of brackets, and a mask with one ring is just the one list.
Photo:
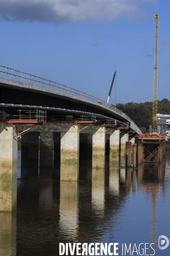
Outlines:
[[158, 33], [159, 15], [155, 14], [154, 61], [153, 61], [153, 130], [157, 129], [158, 110]]

